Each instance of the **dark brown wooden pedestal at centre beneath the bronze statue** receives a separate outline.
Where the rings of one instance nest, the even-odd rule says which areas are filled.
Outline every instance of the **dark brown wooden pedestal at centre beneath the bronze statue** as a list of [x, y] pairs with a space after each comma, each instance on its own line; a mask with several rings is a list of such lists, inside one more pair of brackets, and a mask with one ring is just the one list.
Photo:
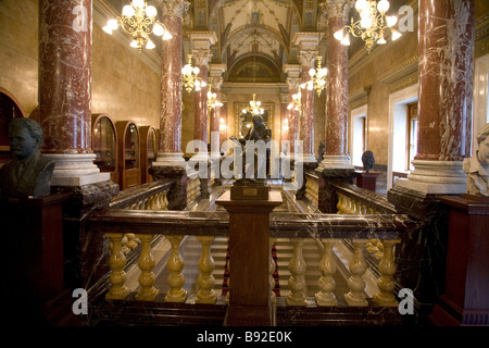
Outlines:
[[225, 325], [269, 326], [269, 213], [281, 204], [280, 191], [269, 191], [267, 200], [233, 200], [227, 190], [216, 204], [229, 213], [230, 293]]

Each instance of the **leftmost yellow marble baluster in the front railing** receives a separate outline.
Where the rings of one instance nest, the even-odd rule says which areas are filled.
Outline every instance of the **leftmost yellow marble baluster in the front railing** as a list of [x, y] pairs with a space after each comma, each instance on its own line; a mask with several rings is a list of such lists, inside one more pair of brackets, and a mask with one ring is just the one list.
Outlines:
[[125, 286], [126, 283], [126, 273], [124, 272], [124, 266], [126, 265], [126, 256], [122, 251], [122, 233], [108, 233], [105, 234], [111, 239], [111, 256], [109, 259], [109, 266], [112, 272], [109, 277], [112, 286], [109, 289], [109, 293], [105, 295], [105, 298], [109, 300], [122, 300], [125, 299], [128, 289]]

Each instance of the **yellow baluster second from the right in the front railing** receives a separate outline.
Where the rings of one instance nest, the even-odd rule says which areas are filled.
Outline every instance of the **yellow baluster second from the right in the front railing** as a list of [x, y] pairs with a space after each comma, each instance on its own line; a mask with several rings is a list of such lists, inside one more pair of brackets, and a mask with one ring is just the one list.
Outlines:
[[353, 239], [353, 258], [349, 264], [351, 276], [348, 279], [348, 288], [350, 291], [344, 294], [344, 299], [348, 306], [367, 306], [363, 290], [365, 288], [365, 281], [362, 276], [366, 272], [365, 257], [363, 249], [368, 239]]

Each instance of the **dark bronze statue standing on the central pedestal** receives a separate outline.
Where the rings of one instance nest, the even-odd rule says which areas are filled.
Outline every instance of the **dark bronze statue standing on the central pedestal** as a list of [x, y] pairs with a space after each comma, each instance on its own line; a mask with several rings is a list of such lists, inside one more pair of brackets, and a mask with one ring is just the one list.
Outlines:
[[[229, 139], [234, 140], [234, 141], [238, 141], [241, 147], [244, 149], [246, 147], [246, 142], [247, 140], [263, 140], [265, 144], [268, 142], [272, 139], [272, 129], [269, 129], [264, 123], [263, 123], [263, 117], [261, 115], [253, 115], [252, 117], [252, 122], [253, 125], [249, 128], [247, 135], [240, 139], [237, 139], [235, 136], [229, 137]], [[256, 154], [260, 156], [260, 153], [256, 153], [256, 149], [254, 150], [255, 152], [255, 158]], [[260, 165], [260, 163], [262, 161], [260, 161], [259, 158], [256, 158], [259, 161], [258, 165]], [[251, 169], [249, 169], [250, 171]], [[264, 182], [265, 178], [256, 178], [258, 173], [260, 172], [260, 169], [256, 166], [256, 161], [255, 161], [255, 167], [254, 170], [254, 179], [259, 181], [259, 182]], [[246, 178], [246, 156], [243, 153], [242, 156], [242, 181], [247, 181], [249, 182], [249, 179]], [[265, 172], [266, 175], [268, 175], [269, 173], [269, 148], [266, 148], [266, 159], [265, 159]]]

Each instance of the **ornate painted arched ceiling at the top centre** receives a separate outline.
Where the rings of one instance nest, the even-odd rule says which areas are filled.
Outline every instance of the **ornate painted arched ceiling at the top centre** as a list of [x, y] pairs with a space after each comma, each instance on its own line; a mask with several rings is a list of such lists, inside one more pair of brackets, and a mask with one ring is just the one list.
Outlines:
[[[212, 62], [226, 64], [227, 79], [235, 82], [246, 80], [243, 74], [256, 72], [258, 65], [278, 74], [269, 79], [283, 79], [283, 65], [298, 60], [291, 38], [300, 30], [315, 32], [321, 17], [318, 0], [188, 1], [184, 33], [213, 30]], [[247, 59], [253, 55], [254, 63]]]

